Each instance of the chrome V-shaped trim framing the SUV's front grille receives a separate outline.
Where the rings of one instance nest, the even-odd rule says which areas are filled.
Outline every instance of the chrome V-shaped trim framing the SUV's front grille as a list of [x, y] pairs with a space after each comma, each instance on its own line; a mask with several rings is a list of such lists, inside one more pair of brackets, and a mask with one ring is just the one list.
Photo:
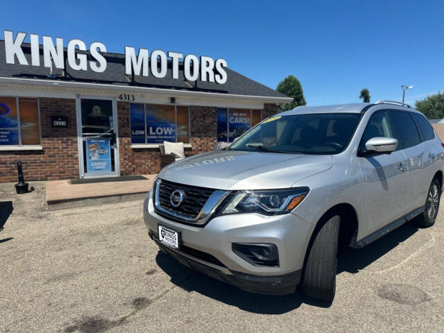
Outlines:
[[160, 182], [162, 180], [160, 178], [157, 178], [155, 180], [154, 186], [155, 186], [155, 195], [154, 195], [154, 207], [158, 212], [162, 212], [164, 214], [167, 214], [169, 216], [172, 216], [175, 219], [184, 221], [186, 223], [193, 223], [196, 225], [203, 225], [207, 223], [207, 221], [210, 219], [216, 208], [222, 203], [222, 201], [230, 194], [230, 191], [221, 191], [219, 189], [214, 190], [210, 198], [207, 199], [207, 202], [205, 205], [203, 205], [202, 210], [200, 210], [199, 214], [197, 214], [196, 217], [191, 218], [187, 216], [183, 216], [181, 214], [178, 214], [177, 212], [173, 212], [172, 210], [168, 210], [167, 208], [164, 208], [160, 205], [159, 200], [159, 192], [160, 192]]

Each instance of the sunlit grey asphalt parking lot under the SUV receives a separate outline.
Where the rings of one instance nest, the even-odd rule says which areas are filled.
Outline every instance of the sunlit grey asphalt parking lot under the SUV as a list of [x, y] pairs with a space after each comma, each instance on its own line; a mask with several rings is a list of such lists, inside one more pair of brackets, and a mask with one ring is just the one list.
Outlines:
[[159, 253], [142, 201], [47, 212], [0, 187], [0, 332], [443, 332], [444, 215], [341, 257], [332, 305], [239, 291]]

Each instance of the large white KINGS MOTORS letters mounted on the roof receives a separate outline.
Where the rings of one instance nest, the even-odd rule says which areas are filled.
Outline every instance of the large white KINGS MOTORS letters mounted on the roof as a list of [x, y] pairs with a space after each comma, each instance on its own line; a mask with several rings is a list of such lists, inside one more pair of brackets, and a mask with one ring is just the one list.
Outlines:
[[[30, 65], [24, 55], [22, 44], [27, 33], [17, 33], [14, 37], [12, 31], [4, 31], [6, 63], [15, 64], [16, 59], [19, 65]], [[30, 34], [31, 40], [31, 65], [40, 66], [40, 37]], [[53, 38], [42, 36], [43, 42], [43, 66], [58, 69], [65, 69], [65, 52], [63, 49], [63, 39], [56, 38], [54, 44]], [[68, 65], [75, 71], [87, 71], [88, 67], [96, 73], [106, 71], [107, 61], [102, 53], [106, 52], [105, 44], [93, 42], [89, 45], [89, 53], [92, 60], [87, 59], [86, 44], [82, 40], [70, 40], [67, 45]], [[196, 81], [200, 78], [202, 81], [215, 82], [223, 84], [227, 82], [227, 62], [224, 59], [214, 60], [211, 57], [194, 56], [178, 52], [164, 52], [154, 50], [149, 53], [148, 49], [139, 49], [137, 54], [132, 46], [125, 46], [125, 74], [136, 76], [149, 76], [155, 78], [164, 78], [167, 76], [168, 61], [171, 61], [171, 78], [179, 78], [179, 62], [183, 62], [183, 73], [187, 80]]]

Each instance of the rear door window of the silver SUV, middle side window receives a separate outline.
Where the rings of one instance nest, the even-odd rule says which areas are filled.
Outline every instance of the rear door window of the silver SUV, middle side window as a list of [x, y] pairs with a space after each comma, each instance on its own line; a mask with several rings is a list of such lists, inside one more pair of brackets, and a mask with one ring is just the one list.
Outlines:
[[408, 112], [390, 111], [393, 126], [398, 133], [398, 147], [406, 149], [421, 142], [418, 129]]

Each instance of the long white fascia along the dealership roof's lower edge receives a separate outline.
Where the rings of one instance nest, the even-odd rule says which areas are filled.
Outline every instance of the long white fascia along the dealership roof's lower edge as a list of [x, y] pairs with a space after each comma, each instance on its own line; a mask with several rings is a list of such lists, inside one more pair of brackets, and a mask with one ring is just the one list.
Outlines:
[[168, 94], [171, 97], [194, 97], [196, 99], [230, 99], [239, 101], [260, 101], [263, 103], [291, 103], [293, 99], [290, 97], [275, 97], [275, 96], [250, 96], [250, 95], [237, 95], [237, 94], [221, 94], [214, 92], [194, 92], [189, 90], [176, 90], [176, 89], [161, 89], [151, 87], [131, 87], [128, 85], [108, 85], [103, 83], [83, 83], [83, 82], [69, 82], [62, 80], [41, 80], [33, 78], [6, 78], [0, 77], [0, 83], [10, 85], [27, 85], [27, 86], [40, 86], [40, 87], [53, 87], [53, 88], [65, 88], [65, 89], [89, 89], [89, 90], [106, 90], [109, 92], [122, 93], [146, 93], [146, 94]]

